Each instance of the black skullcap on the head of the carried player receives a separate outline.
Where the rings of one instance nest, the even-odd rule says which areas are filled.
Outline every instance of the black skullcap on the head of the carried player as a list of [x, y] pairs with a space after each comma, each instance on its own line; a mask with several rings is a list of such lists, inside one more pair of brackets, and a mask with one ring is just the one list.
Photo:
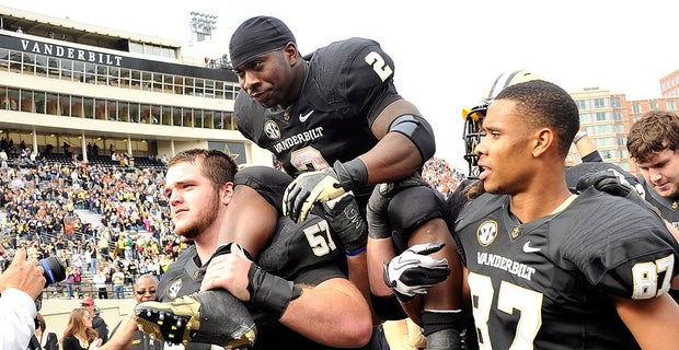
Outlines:
[[283, 21], [260, 15], [243, 22], [231, 36], [229, 51], [233, 68], [260, 55], [295, 42], [295, 35]]

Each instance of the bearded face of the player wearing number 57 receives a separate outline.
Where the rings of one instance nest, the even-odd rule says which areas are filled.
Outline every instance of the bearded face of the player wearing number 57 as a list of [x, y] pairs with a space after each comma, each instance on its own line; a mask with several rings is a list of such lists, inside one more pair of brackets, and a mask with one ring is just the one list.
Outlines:
[[219, 191], [200, 173], [200, 164], [182, 162], [168, 168], [165, 196], [176, 234], [195, 238], [216, 221]]

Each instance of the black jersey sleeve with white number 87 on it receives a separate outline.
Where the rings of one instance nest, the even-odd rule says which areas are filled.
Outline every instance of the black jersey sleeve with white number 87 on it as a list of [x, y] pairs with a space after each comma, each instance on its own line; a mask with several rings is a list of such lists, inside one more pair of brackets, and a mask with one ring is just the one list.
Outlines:
[[649, 299], [669, 289], [677, 275], [677, 241], [651, 210], [594, 189], [580, 195], [582, 209], [565, 237], [563, 256], [601, 292]]

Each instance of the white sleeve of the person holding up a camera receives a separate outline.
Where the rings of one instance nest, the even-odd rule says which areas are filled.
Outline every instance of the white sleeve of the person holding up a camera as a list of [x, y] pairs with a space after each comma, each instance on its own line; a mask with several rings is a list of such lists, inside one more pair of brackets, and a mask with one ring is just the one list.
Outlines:
[[35, 331], [35, 302], [18, 289], [7, 289], [0, 296], [0, 349], [26, 349]]

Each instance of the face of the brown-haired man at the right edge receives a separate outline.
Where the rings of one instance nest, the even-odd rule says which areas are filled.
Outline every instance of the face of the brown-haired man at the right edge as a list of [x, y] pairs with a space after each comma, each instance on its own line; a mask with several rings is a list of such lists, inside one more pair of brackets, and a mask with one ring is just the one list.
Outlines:
[[651, 187], [665, 198], [679, 196], [679, 153], [665, 149], [648, 162], [636, 163]]

